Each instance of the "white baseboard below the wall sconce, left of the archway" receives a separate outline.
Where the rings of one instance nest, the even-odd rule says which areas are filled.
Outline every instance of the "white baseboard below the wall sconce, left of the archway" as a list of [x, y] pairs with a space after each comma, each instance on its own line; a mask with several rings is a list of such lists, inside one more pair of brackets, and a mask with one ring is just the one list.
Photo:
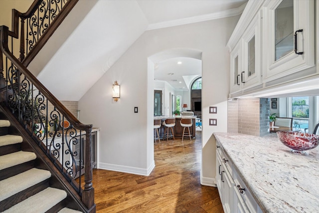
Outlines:
[[115, 165], [115, 164], [107, 164], [107, 163], [101, 163], [101, 162], [98, 163], [98, 169], [124, 172], [124, 173], [143, 175], [143, 176], [149, 176], [154, 168], [155, 168], [155, 161], [153, 161], [153, 163], [148, 169], [128, 167], [128, 166]]

